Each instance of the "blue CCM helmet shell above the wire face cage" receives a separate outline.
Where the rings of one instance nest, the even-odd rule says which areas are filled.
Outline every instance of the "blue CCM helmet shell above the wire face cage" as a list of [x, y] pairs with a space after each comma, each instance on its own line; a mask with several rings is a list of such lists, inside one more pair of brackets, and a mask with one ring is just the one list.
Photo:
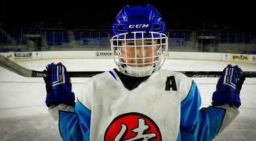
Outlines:
[[112, 24], [112, 35], [131, 33], [132, 31], [154, 31], [165, 33], [165, 22], [152, 5], [125, 6]]

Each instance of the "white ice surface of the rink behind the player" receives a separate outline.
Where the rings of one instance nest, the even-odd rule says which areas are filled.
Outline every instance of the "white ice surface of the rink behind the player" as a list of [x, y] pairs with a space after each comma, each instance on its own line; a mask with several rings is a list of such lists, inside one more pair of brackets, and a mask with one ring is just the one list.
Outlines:
[[[68, 71], [106, 71], [115, 68], [112, 59], [64, 59], [18, 62], [42, 71], [51, 62], [62, 62]], [[173, 71], [222, 71], [230, 62], [166, 60], [163, 68]], [[238, 63], [244, 71], [256, 71], [255, 64]], [[43, 78], [27, 78], [0, 68], [0, 140], [62, 140], [58, 125], [45, 106]], [[75, 96], [89, 78], [72, 78]], [[198, 84], [202, 107], [211, 104], [218, 78], [192, 78]], [[240, 115], [215, 140], [256, 140], [256, 78], [247, 78], [240, 93]]]

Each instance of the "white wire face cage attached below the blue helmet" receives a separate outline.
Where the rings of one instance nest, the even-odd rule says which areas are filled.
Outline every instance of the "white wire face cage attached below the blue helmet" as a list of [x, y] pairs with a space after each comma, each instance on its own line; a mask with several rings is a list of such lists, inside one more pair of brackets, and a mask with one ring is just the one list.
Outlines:
[[160, 70], [168, 53], [168, 37], [158, 32], [121, 33], [110, 42], [117, 69], [133, 77], [145, 77]]

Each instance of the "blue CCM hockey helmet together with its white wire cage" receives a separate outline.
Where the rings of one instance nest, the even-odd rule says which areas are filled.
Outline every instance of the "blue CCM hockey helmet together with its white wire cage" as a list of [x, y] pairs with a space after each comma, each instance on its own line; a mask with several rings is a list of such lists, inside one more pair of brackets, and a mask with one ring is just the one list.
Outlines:
[[145, 77], [160, 70], [168, 51], [165, 22], [152, 6], [125, 6], [112, 24], [114, 62], [121, 73]]

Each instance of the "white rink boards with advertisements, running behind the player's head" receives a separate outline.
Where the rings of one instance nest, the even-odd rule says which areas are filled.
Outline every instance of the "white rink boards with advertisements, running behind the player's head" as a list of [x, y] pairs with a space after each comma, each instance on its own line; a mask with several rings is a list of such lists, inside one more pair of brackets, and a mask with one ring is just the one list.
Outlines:
[[[6, 58], [17, 61], [45, 60], [60, 58], [112, 58], [111, 51], [45, 51], [45, 52], [6, 52], [1, 53]], [[169, 52], [168, 59], [179, 60], [212, 60], [228, 62], [245, 62], [256, 64], [256, 55], [228, 54], [208, 52]]]

